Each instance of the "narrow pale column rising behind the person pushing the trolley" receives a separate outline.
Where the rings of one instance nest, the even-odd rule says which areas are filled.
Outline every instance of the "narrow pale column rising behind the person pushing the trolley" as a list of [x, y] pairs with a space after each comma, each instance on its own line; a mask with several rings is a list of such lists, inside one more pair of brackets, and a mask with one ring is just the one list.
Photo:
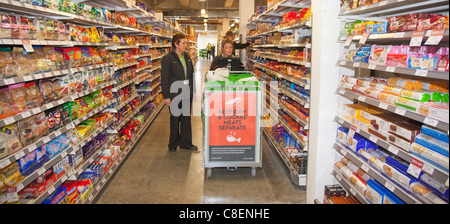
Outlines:
[[[255, 0], [250, 1], [239, 1], [239, 35], [242, 37], [240, 39], [241, 42], [247, 42], [247, 22], [255, 13]], [[240, 58], [242, 63], [245, 64], [245, 58], [247, 55], [247, 51], [245, 49], [241, 50]]]

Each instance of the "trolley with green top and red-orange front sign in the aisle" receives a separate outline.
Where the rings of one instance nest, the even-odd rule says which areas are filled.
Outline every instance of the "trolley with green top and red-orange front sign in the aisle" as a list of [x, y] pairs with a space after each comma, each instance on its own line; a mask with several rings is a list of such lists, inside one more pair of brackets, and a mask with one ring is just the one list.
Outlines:
[[[233, 72], [230, 81], [206, 82], [203, 89], [203, 168], [262, 167], [262, 88], [258, 81], [239, 82], [252, 76]], [[235, 82], [237, 81], [237, 82]]]

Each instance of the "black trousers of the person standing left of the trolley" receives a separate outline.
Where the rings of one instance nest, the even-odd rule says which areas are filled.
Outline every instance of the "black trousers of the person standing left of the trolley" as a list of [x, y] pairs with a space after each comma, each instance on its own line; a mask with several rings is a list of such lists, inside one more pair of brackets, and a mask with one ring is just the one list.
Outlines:
[[[189, 111], [189, 114], [181, 113], [179, 116], [174, 116], [172, 109], [170, 109], [170, 139], [169, 148], [175, 148], [180, 146], [181, 148], [190, 148], [192, 146], [192, 97], [189, 100], [189, 108], [183, 108]], [[182, 108], [182, 101], [178, 105], [171, 105], [170, 108]]]

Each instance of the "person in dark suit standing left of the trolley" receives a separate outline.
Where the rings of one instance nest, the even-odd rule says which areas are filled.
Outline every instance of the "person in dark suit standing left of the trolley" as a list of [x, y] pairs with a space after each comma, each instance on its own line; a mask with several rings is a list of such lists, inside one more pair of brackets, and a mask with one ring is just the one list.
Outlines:
[[164, 103], [170, 107], [169, 150], [198, 150], [192, 144], [191, 108], [195, 99], [194, 65], [189, 54], [186, 35], [172, 38], [172, 51], [161, 59], [161, 87]]

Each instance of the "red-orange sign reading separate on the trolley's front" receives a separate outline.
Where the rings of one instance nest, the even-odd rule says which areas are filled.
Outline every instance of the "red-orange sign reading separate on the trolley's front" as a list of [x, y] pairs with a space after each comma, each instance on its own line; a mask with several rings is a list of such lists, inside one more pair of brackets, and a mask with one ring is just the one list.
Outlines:
[[254, 161], [256, 93], [211, 93], [210, 161]]

